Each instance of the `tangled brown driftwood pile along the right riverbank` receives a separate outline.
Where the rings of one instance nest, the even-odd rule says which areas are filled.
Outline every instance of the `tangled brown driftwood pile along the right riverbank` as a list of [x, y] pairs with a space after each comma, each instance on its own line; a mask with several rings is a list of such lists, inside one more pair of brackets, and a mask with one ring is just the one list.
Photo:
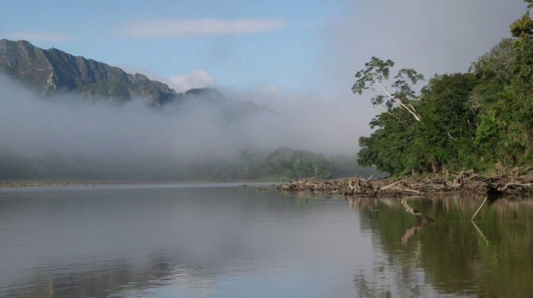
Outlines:
[[425, 177], [401, 177], [396, 179], [365, 179], [354, 177], [342, 180], [301, 179], [280, 184], [287, 192], [328, 192], [345, 197], [376, 197], [377, 195], [420, 195], [440, 192], [457, 194], [518, 194], [533, 192], [533, 168], [505, 172], [493, 177], [484, 177], [473, 171], [427, 175]]

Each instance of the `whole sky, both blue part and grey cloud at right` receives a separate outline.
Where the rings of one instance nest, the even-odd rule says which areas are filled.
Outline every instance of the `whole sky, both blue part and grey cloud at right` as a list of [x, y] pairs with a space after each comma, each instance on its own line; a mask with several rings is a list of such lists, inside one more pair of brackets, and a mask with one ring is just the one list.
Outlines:
[[464, 72], [509, 36], [525, 8], [522, 0], [4, 1], [0, 38], [141, 72], [178, 91], [268, 87], [351, 100], [353, 74], [369, 57], [426, 77]]

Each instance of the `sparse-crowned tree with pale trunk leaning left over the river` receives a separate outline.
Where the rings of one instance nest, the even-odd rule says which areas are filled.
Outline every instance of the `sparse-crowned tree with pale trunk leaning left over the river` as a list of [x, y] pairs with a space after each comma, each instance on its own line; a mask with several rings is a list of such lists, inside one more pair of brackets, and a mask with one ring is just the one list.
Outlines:
[[367, 89], [379, 91], [383, 94], [372, 97], [371, 102], [374, 106], [384, 106], [389, 113], [394, 110], [395, 106], [404, 109], [411, 114], [416, 121], [421, 121], [420, 114], [414, 108], [412, 101], [416, 101], [416, 94], [412, 86], [419, 81], [424, 81], [424, 75], [419, 74], [416, 70], [403, 68], [399, 70], [394, 77], [396, 81], [391, 85], [394, 91], [389, 90], [388, 81], [390, 68], [394, 67], [392, 60], [381, 60], [372, 57], [370, 62], [365, 63], [365, 70], [360, 70], [355, 74], [357, 81], [352, 87], [354, 94], [361, 95]]

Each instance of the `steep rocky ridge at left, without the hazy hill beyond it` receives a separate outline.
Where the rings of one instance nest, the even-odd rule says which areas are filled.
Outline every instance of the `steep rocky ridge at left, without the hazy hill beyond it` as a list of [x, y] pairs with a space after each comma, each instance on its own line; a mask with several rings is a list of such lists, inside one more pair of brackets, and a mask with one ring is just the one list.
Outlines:
[[196, 89], [178, 94], [166, 84], [145, 75], [131, 75], [119, 67], [73, 56], [55, 48], [43, 50], [25, 40], [0, 40], [0, 72], [38, 94], [77, 92], [88, 101], [107, 99], [121, 102], [143, 97], [151, 106], [162, 106], [173, 99], [205, 92], [205, 89]]

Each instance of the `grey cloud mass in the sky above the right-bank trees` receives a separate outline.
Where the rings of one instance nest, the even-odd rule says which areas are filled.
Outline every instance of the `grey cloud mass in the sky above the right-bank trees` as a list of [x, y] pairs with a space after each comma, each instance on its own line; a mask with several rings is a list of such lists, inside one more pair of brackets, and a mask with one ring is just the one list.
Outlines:
[[470, 62], [504, 37], [526, 11], [522, 0], [341, 0], [317, 60], [335, 89], [350, 90], [355, 72], [370, 57], [391, 59], [398, 69], [426, 75], [466, 72]]

